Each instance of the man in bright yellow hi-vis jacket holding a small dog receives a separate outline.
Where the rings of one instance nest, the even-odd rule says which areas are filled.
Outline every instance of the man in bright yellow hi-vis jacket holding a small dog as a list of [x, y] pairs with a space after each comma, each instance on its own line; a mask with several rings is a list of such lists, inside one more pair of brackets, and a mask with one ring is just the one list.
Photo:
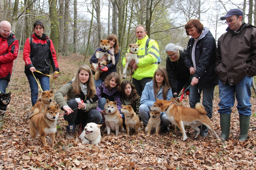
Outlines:
[[[138, 25], [135, 29], [135, 33], [137, 37], [136, 44], [140, 44], [140, 50], [137, 53], [139, 64], [137, 65], [135, 61], [132, 60], [128, 67], [132, 67], [132, 70], [134, 70], [134, 74], [132, 75], [132, 84], [135, 85], [138, 94], [141, 96], [146, 83], [150, 82], [154, 76], [158, 67], [157, 58], [160, 54], [157, 42], [148, 38], [146, 28], [143, 25]], [[125, 56], [122, 61], [124, 66]]]

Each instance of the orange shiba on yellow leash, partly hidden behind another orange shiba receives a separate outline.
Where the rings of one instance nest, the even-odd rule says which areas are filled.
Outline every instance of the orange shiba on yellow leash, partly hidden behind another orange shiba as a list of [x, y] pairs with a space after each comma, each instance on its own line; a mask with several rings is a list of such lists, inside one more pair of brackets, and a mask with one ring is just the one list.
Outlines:
[[41, 96], [37, 99], [35, 106], [32, 107], [31, 112], [33, 112], [35, 108], [39, 108], [39, 113], [44, 114], [45, 108], [53, 105], [53, 102], [52, 102], [53, 98], [54, 98], [53, 90], [51, 91], [46, 90], [42, 92]]

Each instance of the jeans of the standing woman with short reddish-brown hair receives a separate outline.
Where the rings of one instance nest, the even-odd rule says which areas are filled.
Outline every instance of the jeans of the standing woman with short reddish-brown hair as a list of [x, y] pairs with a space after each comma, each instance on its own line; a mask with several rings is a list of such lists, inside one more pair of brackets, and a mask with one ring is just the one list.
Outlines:
[[198, 84], [193, 85], [193, 86], [191, 85], [189, 87], [190, 107], [195, 108], [196, 103], [200, 102], [201, 93], [203, 91], [203, 103], [202, 104], [204, 106], [205, 111], [207, 112], [206, 115], [209, 118], [211, 118], [212, 117], [212, 99], [213, 99], [214, 88], [215, 88], [215, 86], [199, 90]]

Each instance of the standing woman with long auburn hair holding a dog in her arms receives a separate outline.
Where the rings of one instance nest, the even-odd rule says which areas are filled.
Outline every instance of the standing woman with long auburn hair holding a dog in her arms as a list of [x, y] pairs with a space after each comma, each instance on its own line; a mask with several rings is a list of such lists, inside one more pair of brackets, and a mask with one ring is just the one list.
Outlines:
[[[119, 49], [119, 43], [117, 41], [117, 37], [115, 34], [111, 34], [108, 36], [107, 40], [110, 41], [110, 51], [112, 56], [114, 55], [115, 57], [115, 63], [112, 63], [112, 60], [108, 61], [108, 57], [104, 56], [102, 59], [97, 59], [95, 54], [97, 52], [97, 50], [95, 51], [95, 53], [92, 55], [90, 61], [92, 63], [98, 63], [100, 62], [100, 60], [106, 60], [107, 63], [107, 67], [108, 67], [108, 71], [107, 72], [103, 72], [100, 74], [100, 78], [98, 80], [95, 81], [95, 86], [99, 86], [102, 82], [104, 82], [105, 78], [112, 72], [116, 72], [116, 65], [119, 61], [119, 57], [120, 57], [120, 49]], [[112, 57], [111, 57], [112, 58]], [[97, 67], [97, 70], [99, 70], [99, 67]]]

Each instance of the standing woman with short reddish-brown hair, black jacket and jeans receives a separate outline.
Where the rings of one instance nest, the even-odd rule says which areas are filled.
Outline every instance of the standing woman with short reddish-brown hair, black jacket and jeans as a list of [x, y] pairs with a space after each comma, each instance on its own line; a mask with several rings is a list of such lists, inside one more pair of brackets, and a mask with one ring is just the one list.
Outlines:
[[[192, 75], [189, 104], [191, 108], [195, 108], [203, 91], [203, 106], [206, 115], [211, 119], [214, 87], [218, 85], [218, 77], [214, 72], [216, 42], [209, 29], [198, 19], [189, 20], [185, 29], [187, 35], [192, 36], [188, 41], [184, 61]], [[203, 137], [207, 136], [208, 128], [202, 125], [200, 134]]]

